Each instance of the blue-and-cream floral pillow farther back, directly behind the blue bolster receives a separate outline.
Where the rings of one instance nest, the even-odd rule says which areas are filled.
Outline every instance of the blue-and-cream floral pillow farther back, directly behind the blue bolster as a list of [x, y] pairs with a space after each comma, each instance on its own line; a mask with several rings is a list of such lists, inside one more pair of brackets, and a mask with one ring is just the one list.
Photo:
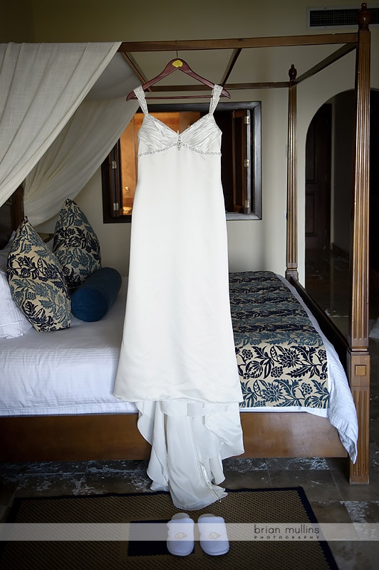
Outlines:
[[100, 244], [80, 207], [66, 199], [54, 232], [53, 253], [60, 262], [68, 289], [78, 289], [93, 271], [100, 269]]

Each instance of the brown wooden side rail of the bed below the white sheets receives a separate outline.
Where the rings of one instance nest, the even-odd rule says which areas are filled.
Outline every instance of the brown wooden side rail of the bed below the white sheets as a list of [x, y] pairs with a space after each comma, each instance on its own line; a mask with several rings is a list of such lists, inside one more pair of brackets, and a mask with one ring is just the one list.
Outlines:
[[[284, 418], [285, 416], [285, 418]], [[347, 457], [327, 418], [308, 413], [242, 412], [241, 457]], [[1, 461], [143, 460], [150, 445], [137, 414], [0, 418]]]

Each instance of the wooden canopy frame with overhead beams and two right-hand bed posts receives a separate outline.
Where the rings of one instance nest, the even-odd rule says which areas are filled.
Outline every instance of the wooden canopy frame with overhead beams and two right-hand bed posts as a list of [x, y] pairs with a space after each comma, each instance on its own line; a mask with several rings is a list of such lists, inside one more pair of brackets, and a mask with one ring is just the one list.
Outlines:
[[[235, 38], [224, 40], [123, 42], [118, 51], [145, 83], [140, 68], [133, 58], [133, 52], [232, 49], [227, 68], [220, 84], [228, 91], [258, 88], [288, 88], [288, 170], [287, 170], [287, 232], [286, 232], [286, 278], [296, 286], [303, 299], [316, 314], [321, 327], [336, 346], [346, 366], [348, 379], [358, 413], [359, 440], [358, 460], [351, 465], [350, 480], [368, 482], [369, 464], [369, 420], [370, 420], [370, 355], [368, 351], [368, 223], [369, 223], [369, 157], [370, 157], [370, 11], [363, 3], [358, 14], [358, 31], [354, 33], [333, 33], [307, 36], [278, 36], [269, 38]], [[237, 58], [245, 48], [266, 48], [283, 46], [316, 46], [343, 44], [330, 56], [324, 58], [301, 76], [296, 77], [296, 68], [291, 66], [289, 81], [278, 83], [227, 83]], [[348, 338], [333, 326], [326, 314], [308, 298], [305, 289], [298, 282], [298, 235], [297, 235], [297, 150], [296, 150], [296, 88], [298, 83], [315, 75], [331, 63], [355, 50], [355, 150], [353, 187], [353, 227], [350, 251], [350, 306]], [[194, 91], [204, 89], [199, 85], [152, 86], [153, 92]]]

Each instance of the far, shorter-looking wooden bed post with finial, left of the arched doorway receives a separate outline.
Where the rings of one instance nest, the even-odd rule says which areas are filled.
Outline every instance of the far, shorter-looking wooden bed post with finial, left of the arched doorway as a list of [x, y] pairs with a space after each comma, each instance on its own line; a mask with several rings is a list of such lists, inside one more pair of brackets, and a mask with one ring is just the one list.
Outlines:
[[286, 235], [286, 279], [294, 277], [298, 281], [297, 259], [297, 100], [296, 75], [294, 65], [289, 70], [289, 125], [288, 125], [288, 165], [287, 165], [287, 235]]

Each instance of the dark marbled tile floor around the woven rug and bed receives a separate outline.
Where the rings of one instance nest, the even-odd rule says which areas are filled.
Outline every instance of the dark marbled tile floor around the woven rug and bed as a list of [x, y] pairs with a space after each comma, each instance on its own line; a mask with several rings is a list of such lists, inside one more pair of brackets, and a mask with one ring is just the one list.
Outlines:
[[[328, 259], [328, 256], [312, 259], [307, 265], [306, 279], [307, 288], [313, 288], [318, 304], [331, 314], [343, 331], [347, 306], [343, 306], [341, 291], [345, 291], [346, 286], [346, 260]], [[334, 280], [336, 290], [332, 288], [330, 292], [328, 279]], [[374, 312], [370, 314], [373, 323], [379, 317], [374, 305]], [[370, 484], [348, 484], [346, 460], [235, 458], [224, 462], [225, 486], [238, 489], [300, 485], [319, 522], [379, 523], [379, 338], [370, 338], [370, 353]], [[0, 521], [6, 517], [14, 497], [148, 491], [150, 481], [146, 467], [145, 461], [0, 465]], [[330, 546], [341, 570], [378, 568], [379, 541], [331, 541]]]

